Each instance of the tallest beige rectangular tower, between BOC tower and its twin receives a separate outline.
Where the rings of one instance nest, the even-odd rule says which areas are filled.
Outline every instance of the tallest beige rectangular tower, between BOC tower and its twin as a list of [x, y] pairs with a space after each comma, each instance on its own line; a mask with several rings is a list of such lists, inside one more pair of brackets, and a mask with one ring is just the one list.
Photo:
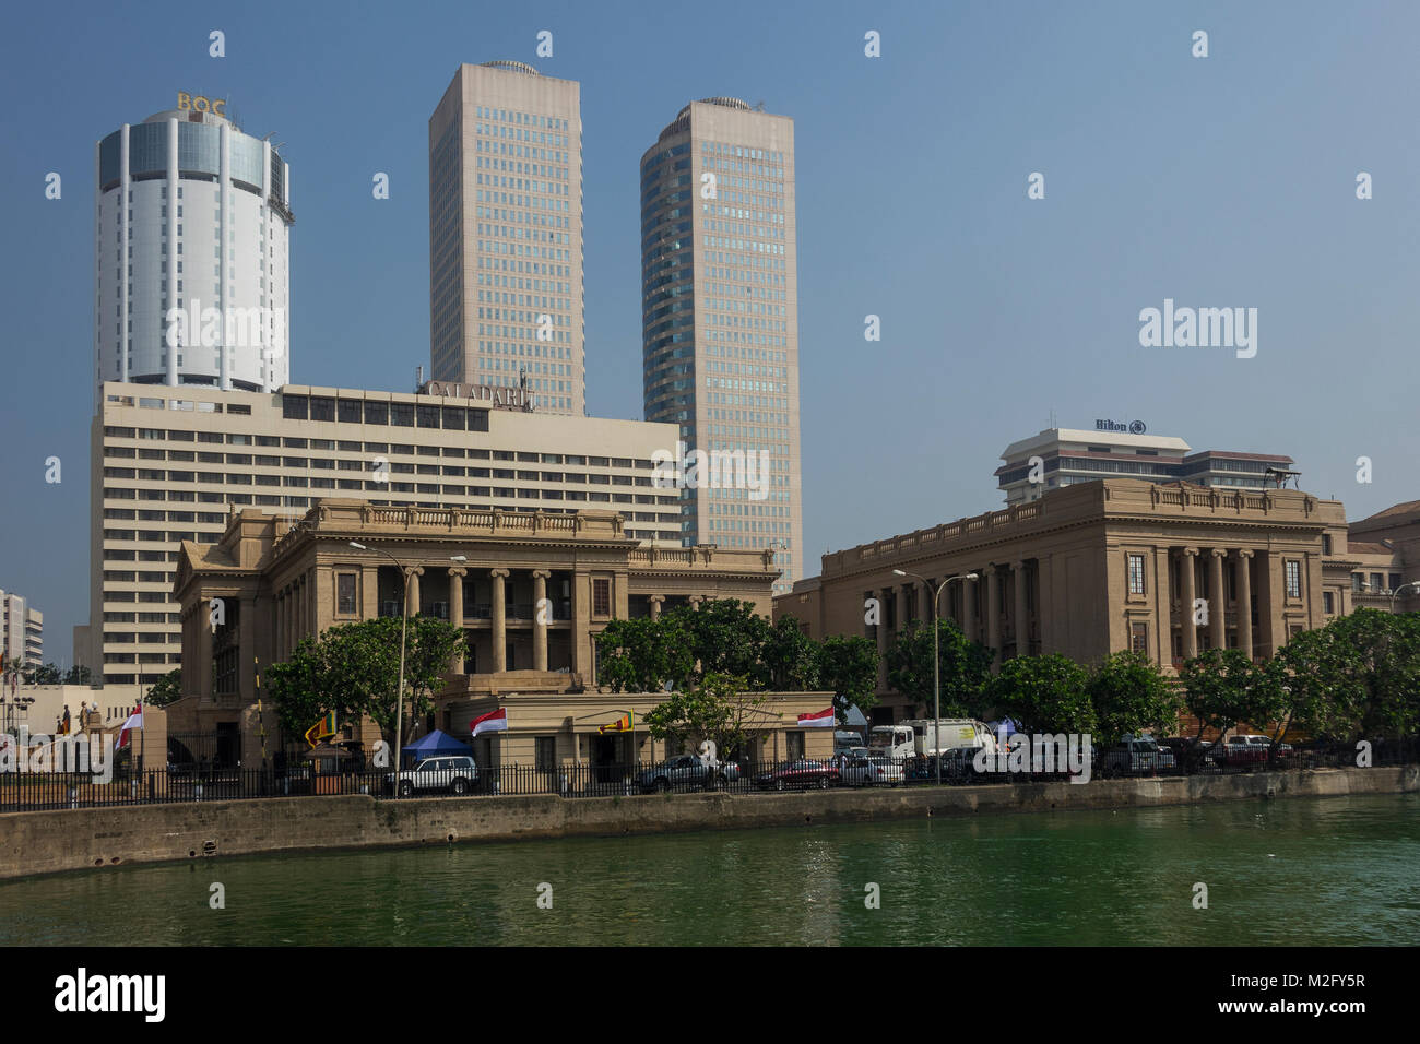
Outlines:
[[586, 413], [581, 87], [460, 65], [429, 118], [430, 376]]

